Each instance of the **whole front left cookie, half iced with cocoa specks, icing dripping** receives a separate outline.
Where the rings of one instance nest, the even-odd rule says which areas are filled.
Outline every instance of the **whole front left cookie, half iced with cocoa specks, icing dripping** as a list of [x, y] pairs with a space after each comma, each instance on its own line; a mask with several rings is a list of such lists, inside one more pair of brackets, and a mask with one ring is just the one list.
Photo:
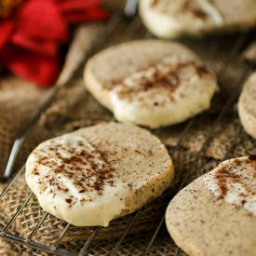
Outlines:
[[25, 176], [47, 212], [76, 226], [107, 226], [161, 195], [173, 165], [149, 131], [110, 123], [41, 143]]

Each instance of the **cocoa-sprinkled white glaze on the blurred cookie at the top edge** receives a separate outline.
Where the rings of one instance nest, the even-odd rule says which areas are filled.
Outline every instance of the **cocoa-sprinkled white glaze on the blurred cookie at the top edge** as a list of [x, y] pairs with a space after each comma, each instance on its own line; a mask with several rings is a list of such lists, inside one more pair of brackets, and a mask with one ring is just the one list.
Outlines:
[[141, 0], [141, 18], [155, 35], [171, 38], [222, 28], [221, 11], [209, 0]]

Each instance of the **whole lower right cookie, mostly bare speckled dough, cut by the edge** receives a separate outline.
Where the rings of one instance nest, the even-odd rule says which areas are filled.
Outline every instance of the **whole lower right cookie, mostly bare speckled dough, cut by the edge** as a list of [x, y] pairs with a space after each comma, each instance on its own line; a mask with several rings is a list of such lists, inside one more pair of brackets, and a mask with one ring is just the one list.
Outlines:
[[168, 232], [189, 255], [256, 255], [256, 156], [222, 162], [169, 203]]

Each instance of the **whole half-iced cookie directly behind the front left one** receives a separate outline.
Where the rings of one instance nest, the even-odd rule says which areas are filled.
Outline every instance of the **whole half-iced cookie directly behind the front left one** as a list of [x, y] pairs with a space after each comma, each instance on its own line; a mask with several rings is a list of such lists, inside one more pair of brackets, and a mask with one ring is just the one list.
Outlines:
[[149, 128], [177, 124], [209, 108], [215, 75], [190, 49], [155, 39], [110, 47], [85, 69], [88, 91], [115, 118]]

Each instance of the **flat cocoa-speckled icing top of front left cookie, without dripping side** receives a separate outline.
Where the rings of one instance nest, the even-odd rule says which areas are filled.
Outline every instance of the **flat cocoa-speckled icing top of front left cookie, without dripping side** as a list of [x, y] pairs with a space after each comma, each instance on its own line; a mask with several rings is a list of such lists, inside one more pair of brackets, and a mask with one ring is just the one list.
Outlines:
[[114, 169], [84, 137], [64, 135], [41, 144], [28, 165], [38, 183], [38, 193], [55, 197], [60, 193], [71, 208], [93, 201], [106, 186], [115, 186]]

